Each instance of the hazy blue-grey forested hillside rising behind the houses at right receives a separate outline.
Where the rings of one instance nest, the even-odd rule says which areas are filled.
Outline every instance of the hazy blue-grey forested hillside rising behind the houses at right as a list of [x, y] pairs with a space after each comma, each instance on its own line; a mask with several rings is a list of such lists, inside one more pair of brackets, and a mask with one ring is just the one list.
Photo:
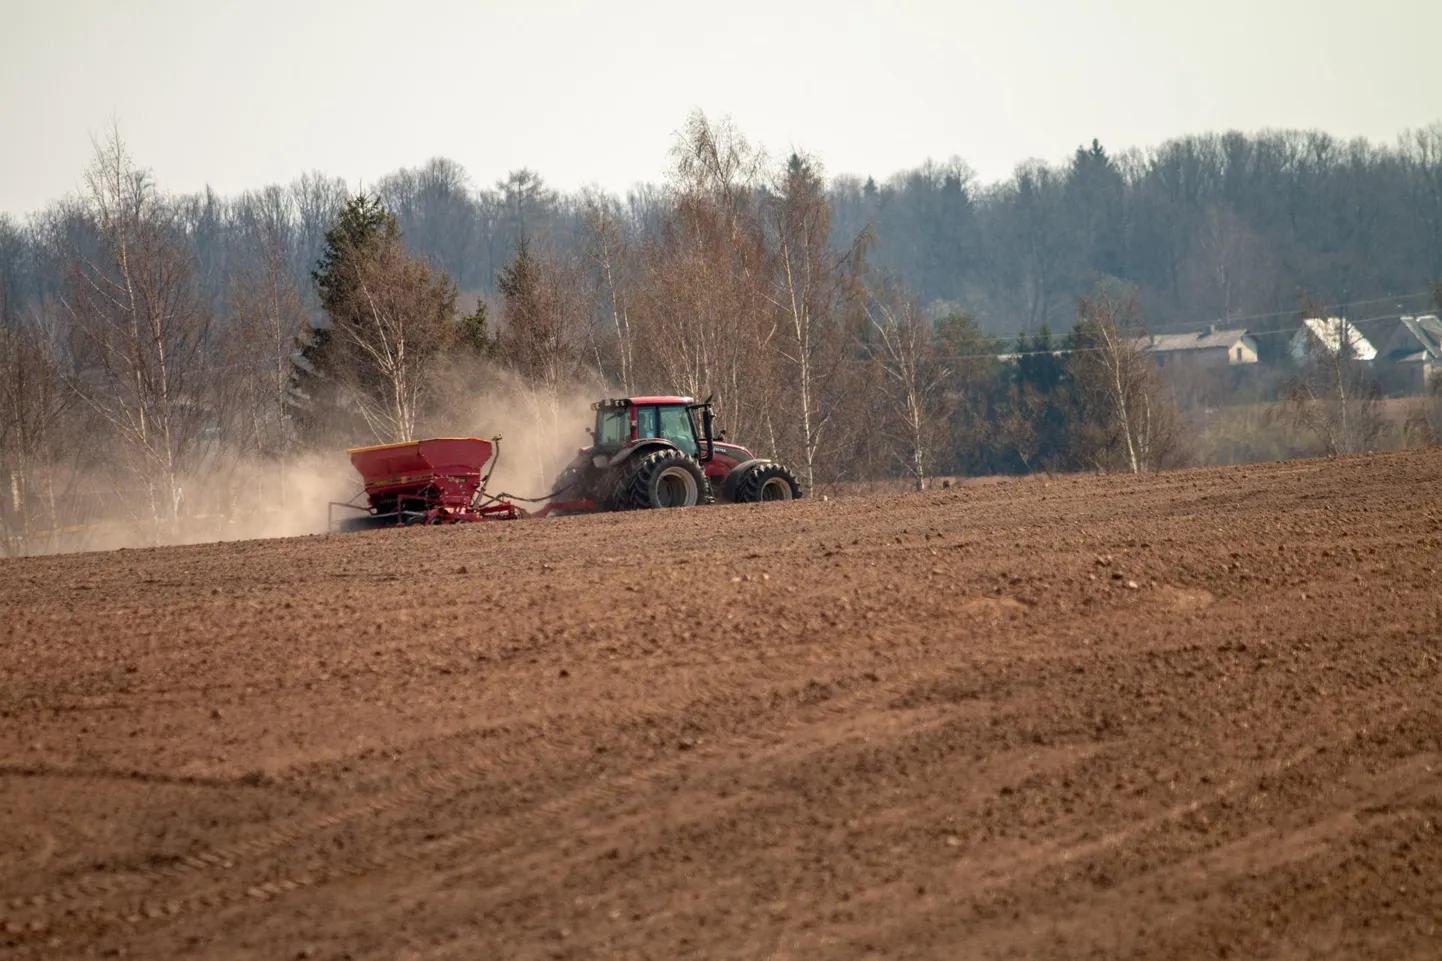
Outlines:
[[1442, 124], [1393, 147], [1229, 133], [1113, 157], [1093, 141], [991, 186], [959, 162], [842, 177], [832, 202], [841, 229], [875, 224], [878, 264], [995, 333], [1069, 323], [1099, 276], [1136, 286], [1156, 325], [1269, 329], [1293, 322], [1299, 290], [1422, 303], [1442, 276]]

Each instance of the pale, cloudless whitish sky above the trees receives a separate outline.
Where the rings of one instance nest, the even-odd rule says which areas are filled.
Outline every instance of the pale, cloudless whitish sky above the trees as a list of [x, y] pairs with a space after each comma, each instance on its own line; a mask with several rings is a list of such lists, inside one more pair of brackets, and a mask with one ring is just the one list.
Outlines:
[[1393, 143], [1442, 120], [1439, 0], [0, 0], [0, 212], [75, 192], [111, 120], [170, 190], [433, 156], [477, 186], [659, 180], [686, 113], [878, 180], [983, 180], [1208, 130]]

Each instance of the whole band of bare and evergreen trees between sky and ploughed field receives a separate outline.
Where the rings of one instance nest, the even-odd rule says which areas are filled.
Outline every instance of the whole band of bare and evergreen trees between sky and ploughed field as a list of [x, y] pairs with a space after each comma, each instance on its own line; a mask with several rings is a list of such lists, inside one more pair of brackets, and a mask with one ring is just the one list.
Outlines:
[[82, 196], [0, 221], [6, 547], [99, 517], [173, 540], [286, 502], [307, 452], [456, 430], [496, 384], [562, 446], [577, 397], [714, 395], [813, 489], [1182, 463], [1136, 335], [1423, 287], [1439, 143], [1093, 146], [994, 188], [960, 164], [877, 186], [696, 114], [626, 199], [474, 190], [444, 160], [222, 199], [162, 193], [115, 136]]

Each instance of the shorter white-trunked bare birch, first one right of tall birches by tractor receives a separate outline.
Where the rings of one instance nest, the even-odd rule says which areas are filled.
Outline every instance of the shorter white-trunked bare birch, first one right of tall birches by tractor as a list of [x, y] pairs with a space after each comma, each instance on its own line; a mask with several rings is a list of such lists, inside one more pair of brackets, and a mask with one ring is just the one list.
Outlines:
[[897, 463], [923, 491], [946, 439], [950, 369], [916, 296], [895, 281], [878, 287], [867, 304], [870, 336], [864, 343], [881, 369], [881, 431]]

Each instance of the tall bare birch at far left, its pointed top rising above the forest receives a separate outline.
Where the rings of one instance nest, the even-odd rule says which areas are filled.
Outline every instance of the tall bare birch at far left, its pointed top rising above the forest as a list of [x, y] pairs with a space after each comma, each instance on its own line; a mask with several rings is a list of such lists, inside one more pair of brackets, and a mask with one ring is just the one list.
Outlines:
[[180, 478], [213, 416], [212, 316], [147, 173], [112, 130], [85, 177], [98, 237], [68, 250], [65, 306], [79, 333], [76, 395], [111, 429], [118, 462], [146, 488], [157, 535], [174, 534]]

